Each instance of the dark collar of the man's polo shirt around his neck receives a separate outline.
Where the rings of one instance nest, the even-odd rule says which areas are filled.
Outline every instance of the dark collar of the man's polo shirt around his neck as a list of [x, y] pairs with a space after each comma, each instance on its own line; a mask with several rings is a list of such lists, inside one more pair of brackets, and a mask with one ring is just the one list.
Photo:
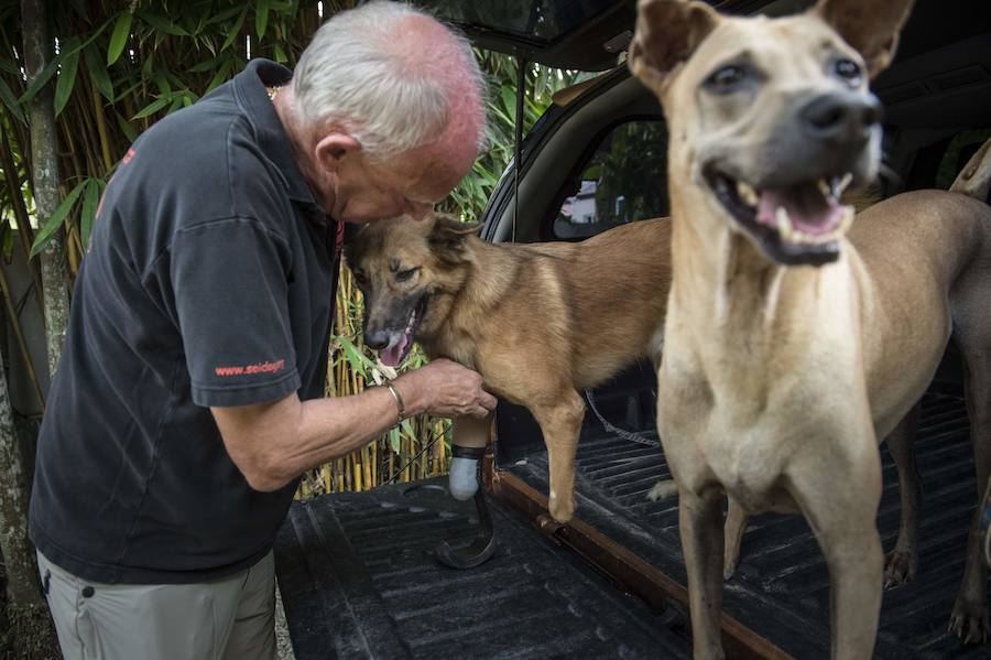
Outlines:
[[[316, 206], [313, 191], [300, 171], [292, 142], [265, 89], [286, 85], [292, 78], [293, 72], [281, 64], [263, 58], [252, 59], [244, 71], [233, 77], [235, 94], [254, 128], [259, 147], [282, 173], [290, 198]], [[325, 215], [323, 209], [320, 215]]]

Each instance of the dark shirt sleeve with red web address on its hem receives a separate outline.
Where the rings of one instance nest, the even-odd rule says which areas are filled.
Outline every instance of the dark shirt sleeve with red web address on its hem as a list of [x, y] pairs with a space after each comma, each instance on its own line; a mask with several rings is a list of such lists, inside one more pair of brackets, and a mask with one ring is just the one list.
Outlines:
[[177, 231], [171, 257], [193, 401], [248, 405], [298, 390], [285, 240], [257, 220], [227, 218]]

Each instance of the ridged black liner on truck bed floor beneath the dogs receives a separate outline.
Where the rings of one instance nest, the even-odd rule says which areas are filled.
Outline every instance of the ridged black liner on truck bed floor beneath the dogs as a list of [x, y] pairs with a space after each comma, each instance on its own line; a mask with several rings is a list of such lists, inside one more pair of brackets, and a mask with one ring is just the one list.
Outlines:
[[[651, 436], [650, 432], [642, 435]], [[959, 390], [940, 387], [926, 394], [915, 447], [924, 489], [918, 575], [912, 584], [884, 592], [874, 657], [991, 658], [991, 645], [963, 647], [946, 631], [978, 498], [967, 410]], [[878, 524], [890, 551], [899, 528], [897, 478], [883, 447], [882, 459], [884, 491]], [[685, 584], [677, 498], [646, 499], [658, 479], [669, 478], [663, 454], [590, 424], [579, 443], [578, 465], [577, 515]], [[547, 491], [546, 453], [531, 453], [507, 467]], [[739, 570], [726, 583], [723, 598], [730, 616], [795, 658], [828, 658], [829, 576], [801, 516], [751, 519]]]

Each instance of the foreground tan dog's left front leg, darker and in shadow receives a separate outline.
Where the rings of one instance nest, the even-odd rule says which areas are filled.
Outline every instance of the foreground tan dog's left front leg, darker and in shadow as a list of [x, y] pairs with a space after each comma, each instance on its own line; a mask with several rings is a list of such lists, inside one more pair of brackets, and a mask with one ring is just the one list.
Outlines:
[[725, 658], [720, 639], [722, 610], [722, 497], [717, 489], [682, 493], [678, 528], [688, 573], [693, 656]]

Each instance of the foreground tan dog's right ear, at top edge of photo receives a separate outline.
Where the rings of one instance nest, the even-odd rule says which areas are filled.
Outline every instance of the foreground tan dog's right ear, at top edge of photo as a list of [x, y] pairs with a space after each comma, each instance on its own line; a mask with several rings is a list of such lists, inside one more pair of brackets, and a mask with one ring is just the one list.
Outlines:
[[914, 0], [819, 0], [812, 10], [857, 48], [873, 78], [891, 64]]

